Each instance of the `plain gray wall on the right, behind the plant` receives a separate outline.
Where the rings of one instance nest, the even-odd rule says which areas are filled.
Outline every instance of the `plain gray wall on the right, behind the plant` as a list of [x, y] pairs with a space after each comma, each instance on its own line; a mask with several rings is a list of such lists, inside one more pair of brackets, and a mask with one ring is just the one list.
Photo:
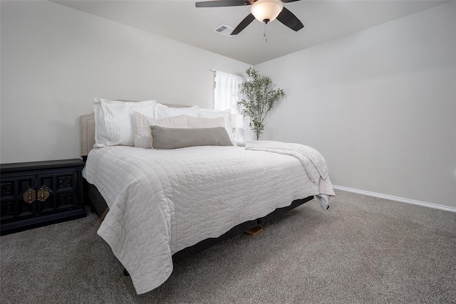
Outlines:
[[286, 99], [263, 139], [319, 150], [333, 184], [456, 207], [456, 3], [257, 65]]

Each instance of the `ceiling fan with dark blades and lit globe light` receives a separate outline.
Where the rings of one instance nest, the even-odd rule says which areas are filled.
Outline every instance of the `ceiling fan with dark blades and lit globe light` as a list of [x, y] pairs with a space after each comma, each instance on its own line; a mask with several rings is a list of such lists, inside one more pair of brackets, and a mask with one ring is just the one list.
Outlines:
[[197, 2], [195, 6], [221, 7], [252, 5], [250, 14], [247, 15], [231, 33], [231, 35], [237, 35], [255, 19], [266, 24], [277, 19], [292, 30], [299, 31], [301, 28], [304, 28], [304, 25], [293, 13], [291, 13], [291, 11], [286, 9], [283, 4], [294, 1], [300, 0], [215, 0], [200, 1]]

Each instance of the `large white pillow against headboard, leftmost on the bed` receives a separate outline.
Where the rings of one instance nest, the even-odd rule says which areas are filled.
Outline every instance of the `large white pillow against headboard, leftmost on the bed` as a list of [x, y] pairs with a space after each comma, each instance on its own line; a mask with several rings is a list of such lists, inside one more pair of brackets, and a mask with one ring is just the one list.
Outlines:
[[135, 145], [133, 111], [154, 115], [155, 100], [133, 102], [95, 98], [95, 146]]

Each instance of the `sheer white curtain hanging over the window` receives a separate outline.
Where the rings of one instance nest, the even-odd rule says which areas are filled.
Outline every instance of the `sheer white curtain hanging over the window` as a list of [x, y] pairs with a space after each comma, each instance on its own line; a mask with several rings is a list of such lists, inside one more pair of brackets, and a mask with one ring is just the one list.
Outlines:
[[239, 90], [244, 79], [238, 75], [215, 71], [214, 110], [238, 113]]

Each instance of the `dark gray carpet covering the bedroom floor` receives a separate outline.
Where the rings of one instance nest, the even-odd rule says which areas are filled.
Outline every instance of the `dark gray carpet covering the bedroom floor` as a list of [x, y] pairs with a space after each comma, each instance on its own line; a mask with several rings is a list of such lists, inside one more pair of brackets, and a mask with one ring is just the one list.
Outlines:
[[85, 219], [1, 236], [1, 303], [456, 303], [456, 213], [336, 192], [136, 295]]

